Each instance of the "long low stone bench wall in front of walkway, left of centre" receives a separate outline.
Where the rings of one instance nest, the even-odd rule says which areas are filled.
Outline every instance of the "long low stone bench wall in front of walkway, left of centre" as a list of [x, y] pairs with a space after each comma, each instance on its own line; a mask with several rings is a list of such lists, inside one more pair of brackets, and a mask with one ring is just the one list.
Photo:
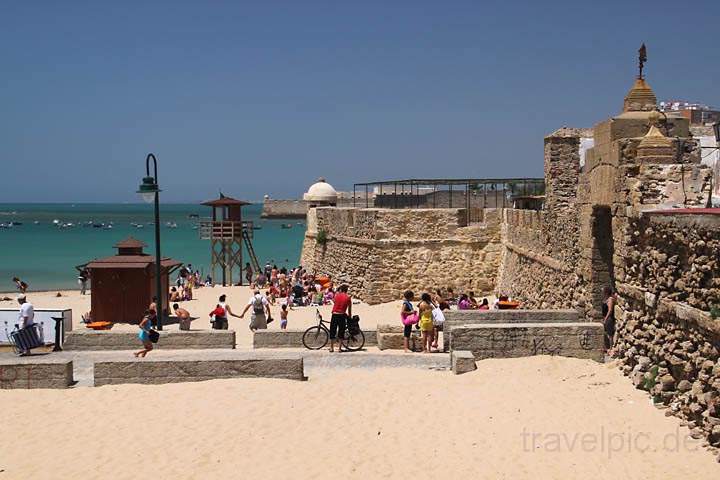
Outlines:
[[247, 377], [306, 379], [303, 358], [299, 354], [263, 355], [222, 350], [165, 355], [151, 353], [155, 355], [139, 359], [125, 355], [122, 359], [96, 361], [94, 385], [162, 384]]

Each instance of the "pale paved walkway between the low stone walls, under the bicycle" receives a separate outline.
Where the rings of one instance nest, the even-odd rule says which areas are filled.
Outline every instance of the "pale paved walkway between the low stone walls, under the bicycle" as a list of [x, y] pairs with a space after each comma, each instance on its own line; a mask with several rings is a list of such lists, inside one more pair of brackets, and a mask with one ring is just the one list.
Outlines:
[[[135, 360], [132, 350], [93, 350], [41, 353], [30, 357], [16, 357], [11, 353], [0, 353], [0, 360], [15, 359], [22, 362], [42, 361], [45, 359], [68, 359], [73, 361], [73, 375], [76, 387], [93, 385], [95, 362]], [[311, 351], [307, 349], [213, 349], [213, 350], [155, 350], [148, 354], [148, 360], [225, 360], [232, 358], [287, 357], [302, 355], [305, 375], [312, 378], [322, 375], [327, 369], [349, 368], [421, 368], [430, 370], [449, 370], [450, 355], [447, 353], [403, 353], [397, 350], [378, 350], [368, 348], [362, 352], [330, 353], [327, 350]], [[138, 359], [141, 362], [143, 359]]]

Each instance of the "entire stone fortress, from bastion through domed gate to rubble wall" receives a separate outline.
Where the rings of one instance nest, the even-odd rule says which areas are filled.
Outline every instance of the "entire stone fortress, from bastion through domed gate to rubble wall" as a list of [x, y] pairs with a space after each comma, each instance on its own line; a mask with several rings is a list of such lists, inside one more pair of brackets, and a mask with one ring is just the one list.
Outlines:
[[655, 104], [637, 79], [621, 114], [546, 137], [541, 211], [484, 210], [467, 226], [461, 209], [317, 209], [303, 264], [370, 302], [452, 286], [590, 321], [613, 287], [623, 371], [720, 447], [720, 211], [702, 210], [712, 171], [687, 120]]

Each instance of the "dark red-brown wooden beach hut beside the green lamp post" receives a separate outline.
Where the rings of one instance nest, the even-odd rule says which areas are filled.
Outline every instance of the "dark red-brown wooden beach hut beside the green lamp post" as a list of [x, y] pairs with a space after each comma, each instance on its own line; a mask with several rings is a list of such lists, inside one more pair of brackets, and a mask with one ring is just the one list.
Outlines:
[[[139, 323], [155, 292], [155, 256], [143, 252], [147, 245], [133, 237], [114, 245], [117, 254], [86, 265], [92, 281], [91, 312], [93, 322]], [[167, 307], [170, 274], [182, 265], [163, 258], [162, 288]], [[167, 310], [165, 310], [167, 315]]]

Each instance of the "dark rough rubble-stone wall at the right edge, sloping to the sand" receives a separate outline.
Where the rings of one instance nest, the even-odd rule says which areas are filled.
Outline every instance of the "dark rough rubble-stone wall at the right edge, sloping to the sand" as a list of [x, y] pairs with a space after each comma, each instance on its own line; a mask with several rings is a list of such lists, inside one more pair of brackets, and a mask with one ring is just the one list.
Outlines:
[[720, 447], [720, 215], [630, 223], [615, 345], [623, 371]]

